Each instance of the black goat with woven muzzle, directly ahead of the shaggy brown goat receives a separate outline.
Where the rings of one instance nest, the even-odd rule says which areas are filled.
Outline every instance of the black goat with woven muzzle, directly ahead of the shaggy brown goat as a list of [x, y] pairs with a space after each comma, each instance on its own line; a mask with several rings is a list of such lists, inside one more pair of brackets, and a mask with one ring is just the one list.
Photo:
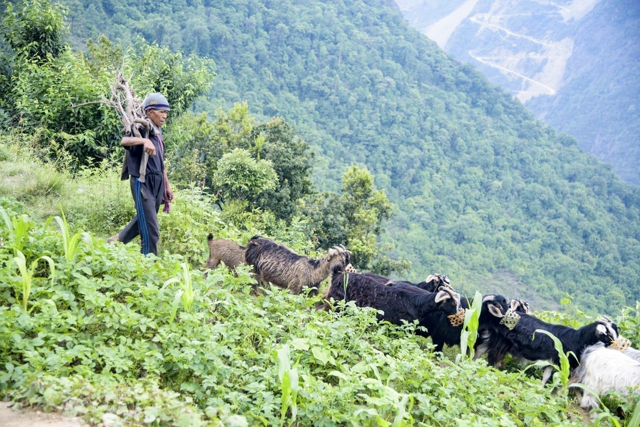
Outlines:
[[[385, 286], [378, 280], [360, 273], [345, 273], [334, 269], [331, 284], [324, 293], [323, 308], [328, 309], [330, 300], [354, 301], [357, 307], [372, 307], [378, 311], [380, 321], [402, 325], [403, 321], [418, 321], [415, 334], [431, 336], [436, 351], [442, 349], [438, 339], [439, 325], [449, 324], [447, 316], [460, 312], [460, 294], [447, 287], [437, 292], [428, 292], [406, 284]], [[460, 341], [460, 332], [458, 332]], [[438, 350], [438, 345], [440, 350]]]

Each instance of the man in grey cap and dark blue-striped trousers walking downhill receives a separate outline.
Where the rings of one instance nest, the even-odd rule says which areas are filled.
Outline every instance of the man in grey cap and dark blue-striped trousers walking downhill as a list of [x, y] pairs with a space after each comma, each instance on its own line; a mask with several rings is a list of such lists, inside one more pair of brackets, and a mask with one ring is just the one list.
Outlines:
[[[129, 131], [120, 141], [120, 145], [128, 152], [126, 167], [130, 176], [129, 183], [136, 216], [124, 229], [107, 241], [129, 243], [136, 236], [140, 236], [140, 252], [157, 256], [157, 245], [160, 239], [157, 213], [161, 204], [173, 201], [173, 191], [164, 167], [164, 143], [160, 129], [170, 107], [164, 95], [156, 92], [147, 95], [142, 108], [149, 122], [148, 131], [143, 130], [143, 138], [132, 136]], [[141, 167], [145, 161], [147, 166]]]

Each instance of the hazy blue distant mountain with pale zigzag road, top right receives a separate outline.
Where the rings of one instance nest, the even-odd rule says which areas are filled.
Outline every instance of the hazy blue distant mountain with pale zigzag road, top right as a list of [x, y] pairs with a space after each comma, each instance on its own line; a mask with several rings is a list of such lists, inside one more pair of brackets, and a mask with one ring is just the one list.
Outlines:
[[640, 3], [396, 3], [442, 49], [640, 185]]

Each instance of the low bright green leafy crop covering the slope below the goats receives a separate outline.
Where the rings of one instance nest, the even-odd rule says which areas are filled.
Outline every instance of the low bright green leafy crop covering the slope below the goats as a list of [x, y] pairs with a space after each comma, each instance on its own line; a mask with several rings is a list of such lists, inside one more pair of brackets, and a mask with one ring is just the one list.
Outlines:
[[[87, 187], [92, 179], [68, 185]], [[484, 360], [456, 363], [458, 348], [436, 355], [429, 340], [412, 335], [415, 326], [380, 324], [371, 310], [317, 311], [314, 298], [280, 289], [253, 296], [246, 268], [239, 277], [223, 268], [204, 277], [198, 230], [238, 241], [242, 233], [217, 213], [198, 214], [202, 195], [178, 194], [185, 202], [161, 216], [161, 227], [168, 233], [193, 214], [186, 226], [193, 234], [173, 232], [179, 250], [161, 258], [141, 256], [135, 243], [108, 245], [104, 234], [86, 234], [57, 215], [38, 220], [15, 198], [1, 199], [3, 398], [90, 423], [107, 414], [133, 425], [582, 423], [585, 415], [557, 376], [541, 388], [536, 375], [513, 363], [502, 372]], [[86, 216], [65, 213], [94, 223]], [[302, 239], [295, 227], [280, 233]], [[27, 298], [26, 273], [12, 261], [17, 250], [33, 265]], [[38, 262], [42, 257], [51, 262]], [[634, 337], [639, 310], [618, 316], [622, 334]], [[574, 325], [589, 320], [577, 310], [544, 316]], [[633, 403], [618, 398], [612, 405], [630, 414]]]

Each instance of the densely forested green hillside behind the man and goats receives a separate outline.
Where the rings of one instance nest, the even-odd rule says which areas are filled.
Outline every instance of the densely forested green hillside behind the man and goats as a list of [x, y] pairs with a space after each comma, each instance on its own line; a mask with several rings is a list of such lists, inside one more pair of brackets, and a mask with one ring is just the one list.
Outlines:
[[[212, 58], [195, 110], [247, 101], [317, 152], [314, 183], [365, 166], [394, 204], [406, 278], [615, 312], [640, 295], [640, 189], [409, 28], [390, 1], [65, 1], [81, 49], [136, 36]], [[168, 138], [171, 133], [168, 129]]]

